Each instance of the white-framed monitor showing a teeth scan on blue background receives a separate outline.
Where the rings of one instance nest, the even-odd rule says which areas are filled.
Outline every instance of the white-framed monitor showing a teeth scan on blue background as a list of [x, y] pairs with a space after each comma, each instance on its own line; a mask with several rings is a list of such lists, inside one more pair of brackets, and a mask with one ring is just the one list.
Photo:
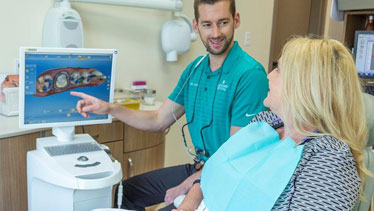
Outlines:
[[116, 50], [74, 48], [20, 49], [20, 127], [45, 128], [111, 122], [110, 115], [81, 116], [84, 92], [112, 102]]

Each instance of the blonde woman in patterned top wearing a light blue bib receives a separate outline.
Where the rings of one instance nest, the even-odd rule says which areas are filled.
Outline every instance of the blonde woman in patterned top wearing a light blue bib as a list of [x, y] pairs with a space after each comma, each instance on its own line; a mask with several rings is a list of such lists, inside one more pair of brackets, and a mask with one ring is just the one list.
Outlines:
[[271, 111], [221, 146], [177, 210], [353, 210], [368, 171], [351, 54], [336, 40], [293, 38], [268, 79]]

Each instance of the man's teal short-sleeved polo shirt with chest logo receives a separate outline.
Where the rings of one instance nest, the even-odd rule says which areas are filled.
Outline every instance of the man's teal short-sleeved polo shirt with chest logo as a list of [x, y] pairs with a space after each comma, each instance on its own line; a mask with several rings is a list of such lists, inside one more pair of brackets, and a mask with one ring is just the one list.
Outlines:
[[[187, 66], [169, 99], [183, 105], [187, 122], [192, 121], [188, 129], [195, 151], [204, 150], [203, 138], [212, 155], [230, 137], [231, 126], [244, 127], [266, 110], [269, 87], [263, 66], [236, 41], [218, 70], [211, 71], [209, 56], [196, 67], [201, 59]], [[208, 158], [200, 154], [199, 159]]]

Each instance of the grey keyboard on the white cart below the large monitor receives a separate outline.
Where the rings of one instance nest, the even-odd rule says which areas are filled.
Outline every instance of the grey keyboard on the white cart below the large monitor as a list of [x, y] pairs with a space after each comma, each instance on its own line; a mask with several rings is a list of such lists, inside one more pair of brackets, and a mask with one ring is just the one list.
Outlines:
[[58, 146], [45, 147], [47, 153], [51, 156], [70, 155], [83, 152], [95, 152], [102, 150], [95, 142], [80, 144], [65, 144]]

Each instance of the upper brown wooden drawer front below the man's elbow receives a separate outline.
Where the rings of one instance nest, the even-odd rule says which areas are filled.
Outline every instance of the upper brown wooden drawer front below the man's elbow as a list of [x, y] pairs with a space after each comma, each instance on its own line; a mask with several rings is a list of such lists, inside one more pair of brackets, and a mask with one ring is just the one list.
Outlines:
[[132, 152], [144, 148], [150, 148], [165, 142], [165, 133], [152, 133], [135, 129], [124, 124], [125, 138], [123, 150], [124, 152]]

